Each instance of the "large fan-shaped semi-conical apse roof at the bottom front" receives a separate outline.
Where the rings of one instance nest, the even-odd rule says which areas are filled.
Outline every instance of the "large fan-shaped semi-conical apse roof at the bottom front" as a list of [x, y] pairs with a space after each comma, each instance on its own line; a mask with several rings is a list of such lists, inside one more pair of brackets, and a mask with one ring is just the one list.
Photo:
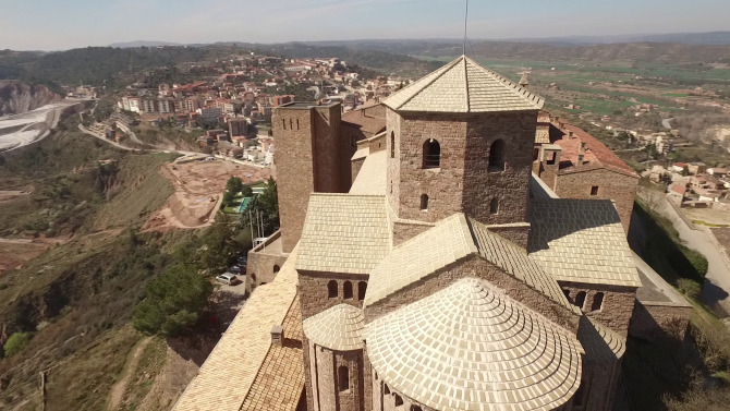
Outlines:
[[552, 410], [581, 384], [577, 339], [482, 279], [386, 314], [365, 335], [382, 379], [440, 411]]

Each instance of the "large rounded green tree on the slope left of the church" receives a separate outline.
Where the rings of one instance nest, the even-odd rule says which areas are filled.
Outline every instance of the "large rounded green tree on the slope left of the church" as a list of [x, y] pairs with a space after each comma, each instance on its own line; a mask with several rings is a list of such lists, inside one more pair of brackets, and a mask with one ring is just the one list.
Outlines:
[[211, 292], [210, 281], [194, 267], [177, 265], [145, 287], [134, 328], [147, 335], [179, 335], [198, 321]]

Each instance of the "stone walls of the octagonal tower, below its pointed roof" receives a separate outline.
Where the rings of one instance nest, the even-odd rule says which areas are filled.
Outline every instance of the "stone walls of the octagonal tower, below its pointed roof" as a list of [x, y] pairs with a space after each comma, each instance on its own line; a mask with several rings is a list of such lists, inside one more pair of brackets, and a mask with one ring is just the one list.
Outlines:
[[[391, 207], [403, 219], [435, 222], [463, 211], [485, 223], [525, 221], [534, 111], [498, 114], [399, 113], [388, 110], [388, 135], [394, 135], [394, 158], [388, 179], [393, 189]], [[440, 167], [423, 168], [424, 143], [440, 145]], [[506, 143], [506, 169], [489, 172], [491, 144]], [[391, 142], [388, 141], [388, 149]], [[428, 209], [421, 196], [428, 195]], [[499, 211], [490, 213], [492, 198]]]

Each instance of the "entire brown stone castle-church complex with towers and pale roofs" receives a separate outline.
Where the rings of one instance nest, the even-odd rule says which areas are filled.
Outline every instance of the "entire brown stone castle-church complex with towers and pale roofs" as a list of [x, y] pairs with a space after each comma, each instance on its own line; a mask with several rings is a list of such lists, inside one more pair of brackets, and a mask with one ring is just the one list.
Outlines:
[[461, 57], [360, 141], [278, 108], [281, 231], [175, 410], [611, 410], [626, 337], [691, 307], [628, 245], [635, 173], [523, 85]]

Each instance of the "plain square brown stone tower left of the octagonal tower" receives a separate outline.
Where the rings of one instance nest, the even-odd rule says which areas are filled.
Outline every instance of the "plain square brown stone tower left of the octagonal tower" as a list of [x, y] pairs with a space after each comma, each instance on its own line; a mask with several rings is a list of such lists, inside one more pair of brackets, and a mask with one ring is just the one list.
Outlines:
[[[311, 193], [342, 193], [349, 181], [340, 181], [339, 102], [292, 102], [278, 107], [271, 118], [277, 150], [287, 153], [277, 161], [277, 184], [287, 193], [279, 202], [282, 250], [292, 251], [304, 226]], [[284, 157], [277, 157], [284, 158]]]

